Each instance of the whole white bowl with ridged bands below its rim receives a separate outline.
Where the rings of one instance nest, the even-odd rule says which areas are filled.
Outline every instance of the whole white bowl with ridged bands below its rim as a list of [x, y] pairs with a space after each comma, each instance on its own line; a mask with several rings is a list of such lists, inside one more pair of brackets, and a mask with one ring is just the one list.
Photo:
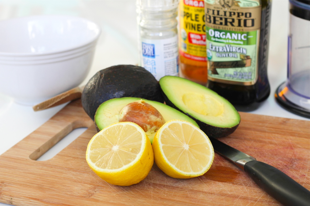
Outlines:
[[34, 105], [82, 83], [100, 28], [73, 16], [0, 21], [0, 93]]

